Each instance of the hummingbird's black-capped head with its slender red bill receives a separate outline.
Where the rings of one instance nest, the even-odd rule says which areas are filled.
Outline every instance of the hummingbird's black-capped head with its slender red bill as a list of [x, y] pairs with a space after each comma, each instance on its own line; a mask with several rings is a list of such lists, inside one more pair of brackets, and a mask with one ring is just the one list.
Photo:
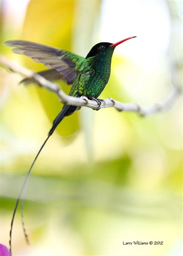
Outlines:
[[87, 54], [86, 58], [90, 58], [90, 57], [94, 57], [94, 56], [97, 56], [98, 54], [103, 54], [103, 53], [106, 53], [107, 51], [109, 50], [112, 50], [114, 51], [115, 47], [119, 44], [121, 44], [122, 42], [125, 42], [129, 39], [132, 39], [136, 36], [132, 36], [132, 37], [128, 37], [126, 39], [123, 39], [115, 44], [112, 44], [112, 43], [109, 43], [109, 42], [100, 42], [98, 44], [95, 44], [90, 52]]

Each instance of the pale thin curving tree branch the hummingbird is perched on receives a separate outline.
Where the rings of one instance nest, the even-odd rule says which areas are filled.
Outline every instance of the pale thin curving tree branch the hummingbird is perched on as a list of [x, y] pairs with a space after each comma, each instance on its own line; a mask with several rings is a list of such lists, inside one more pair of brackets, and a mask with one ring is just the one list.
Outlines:
[[105, 100], [102, 100], [101, 105], [99, 107], [97, 102], [95, 102], [94, 100], [89, 100], [84, 96], [81, 96], [80, 98], [76, 98], [76, 97], [67, 95], [66, 93], [63, 92], [63, 90], [61, 90], [58, 84], [52, 83], [51, 81], [46, 80], [41, 75], [31, 70], [28, 70], [27, 68], [24, 68], [22, 66], [12, 63], [2, 55], [0, 55], [0, 63], [3, 64], [3, 66], [9, 68], [10, 71], [14, 71], [15, 73], [19, 73], [20, 75], [23, 75], [25, 77], [34, 78], [37, 81], [37, 83], [39, 83], [39, 86], [42, 86], [47, 90], [54, 92], [59, 97], [61, 102], [63, 102], [64, 104], [74, 105], [78, 107], [88, 107], [94, 110], [114, 107], [118, 111], [137, 112], [142, 116], [147, 116], [147, 115], [152, 115], [159, 111], [164, 111], [166, 109], [169, 109], [176, 102], [177, 98], [181, 94], [180, 88], [176, 86], [172, 86], [172, 92], [168, 95], [168, 97], [164, 101], [154, 103], [149, 106], [142, 106], [138, 103], [122, 103], [112, 98], [107, 98]]

